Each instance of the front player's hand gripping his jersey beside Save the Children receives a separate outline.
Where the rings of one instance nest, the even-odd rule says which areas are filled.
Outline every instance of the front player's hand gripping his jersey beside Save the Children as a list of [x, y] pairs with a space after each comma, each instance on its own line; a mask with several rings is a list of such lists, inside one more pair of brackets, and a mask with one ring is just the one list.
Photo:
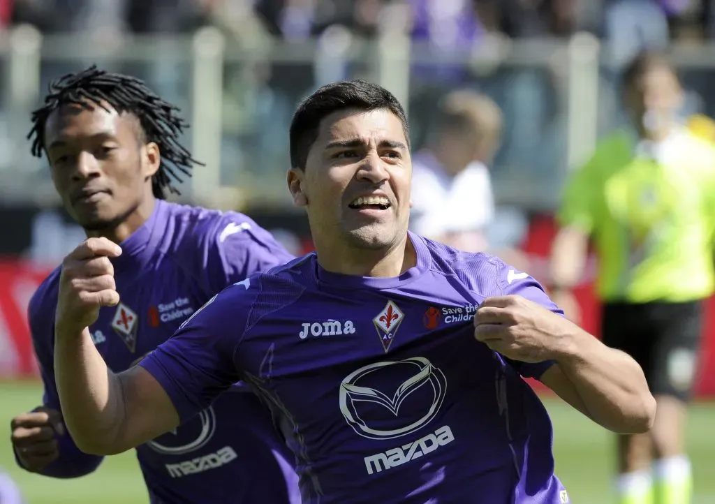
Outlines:
[[576, 328], [560, 315], [516, 295], [484, 300], [474, 326], [478, 341], [521, 362], [543, 362], [566, 354]]

